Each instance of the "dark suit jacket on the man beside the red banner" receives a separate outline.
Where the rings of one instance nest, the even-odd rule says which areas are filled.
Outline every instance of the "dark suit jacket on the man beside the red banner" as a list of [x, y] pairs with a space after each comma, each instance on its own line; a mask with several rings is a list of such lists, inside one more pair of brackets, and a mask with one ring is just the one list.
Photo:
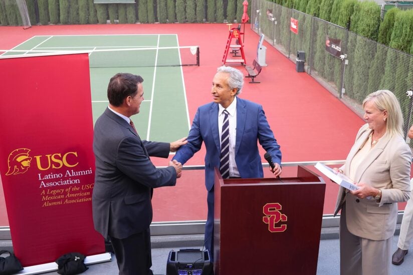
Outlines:
[[173, 186], [172, 166], [157, 169], [149, 156], [168, 157], [169, 143], [142, 141], [120, 116], [106, 108], [95, 124], [96, 158], [92, 207], [95, 229], [126, 238], [149, 227], [152, 188]]

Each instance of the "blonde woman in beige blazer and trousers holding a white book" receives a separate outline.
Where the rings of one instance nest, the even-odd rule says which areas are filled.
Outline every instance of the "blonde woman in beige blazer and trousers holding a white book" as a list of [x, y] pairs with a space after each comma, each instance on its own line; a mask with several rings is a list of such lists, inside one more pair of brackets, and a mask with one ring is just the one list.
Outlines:
[[340, 217], [340, 273], [389, 274], [397, 202], [410, 195], [411, 150], [403, 140], [402, 115], [387, 90], [363, 101], [363, 125], [345, 164], [335, 170], [353, 179], [356, 191], [340, 187], [334, 215]]

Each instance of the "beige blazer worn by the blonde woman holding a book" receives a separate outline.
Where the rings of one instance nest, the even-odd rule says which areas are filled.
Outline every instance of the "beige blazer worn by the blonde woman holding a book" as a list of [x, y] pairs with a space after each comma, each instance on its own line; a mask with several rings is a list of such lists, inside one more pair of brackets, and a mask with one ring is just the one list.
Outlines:
[[[350, 174], [351, 160], [371, 131], [368, 124], [358, 131], [346, 162], [340, 167], [345, 175]], [[353, 235], [372, 240], [384, 240], [392, 236], [396, 226], [397, 202], [406, 201], [410, 196], [410, 165], [411, 150], [403, 138], [384, 135], [356, 168], [353, 179], [356, 183], [362, 182], [381, 189], [380, 203], [373, 198], [357, 198], [340, 187], [334, 216], [345, 201], [347, 228]]]

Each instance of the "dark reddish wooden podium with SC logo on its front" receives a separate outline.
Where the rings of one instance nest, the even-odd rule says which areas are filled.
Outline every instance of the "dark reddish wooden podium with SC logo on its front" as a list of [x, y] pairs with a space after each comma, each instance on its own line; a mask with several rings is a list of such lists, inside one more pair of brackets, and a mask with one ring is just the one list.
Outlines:
[[216, 275], [316, 274], [324, 180], [298, 166], [297, 177], [225, 179], [215, 174]]

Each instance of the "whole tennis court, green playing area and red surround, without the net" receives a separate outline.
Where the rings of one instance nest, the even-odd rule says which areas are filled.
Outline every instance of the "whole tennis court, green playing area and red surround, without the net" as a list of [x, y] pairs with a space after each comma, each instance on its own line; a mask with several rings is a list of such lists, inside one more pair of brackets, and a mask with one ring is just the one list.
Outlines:
[[[159, 47], [199, 46], [199, 67], [138, 67], [136, 62], [136, 67], [90, 69], [95, 119], [107, 105], [107, 102], [98, 101], [107, 100], [109, 78], [118, 72], [137, 73], [145, 80], [144, 98], [150, 100], [143, 102], [141, 113], [132, 117], [135, 124], [139, 123], [139, 134], [142, 138], [147, 138], [149, 134], [149, 140], [172, 141], [186, 136], [197, 107], [212, 101], [211, 81], [217, 67], [222, 65], [228, 30], [229, 26], [226, 24], [56, 25], [36, 26], [28, 30], [20, 27], [0, 27], [0, 34], [7, 38], [0, 41], [0, 49], [40, 50], [39, 48], [56, 47], [55, 50], [85, 50], [86, 48], [81, 47], [88, 47], [90, 50], [96, 47], [97, 51], [117, 49], [115, 47], [146, 48], [157, 45], [158, 34], [161, 34]], [[257, 54], [259, 36], [248, 26], [245, 32], [244, 51], [246, 63], [250, 65]], [[143, 39], [146, 37], [151, 39]], [[363, 120], [310, 75], [295, 72], [294, 63], [271, 45], [267, 42], [264, 45], [267, 47], [268, 66], [263, 68], [257, 78], [261, 83], [250, 84], [246, 81], [240, 97], [263, 105], [271, 128], [281, 145], [282, 161], [345, 159], [354, 143], [357, 130], [364, 123]], [[234, 66], [245, 73], [244, 67], [238, 64]], [[175, 70], [179, 74], [175, 75]], [[182, 87], [177, 89], [178, 86]], [[147, 130], [148, 126], [150, 130]], [[260, 150], [260, 153], [263, 156], [265, 151]], [[204, 156], [205, 148], [202, 146], [185, 166], [203, 165]], [[166, 159], [160, 158], [152, 158], [152, 161], [156, 166], [165, 166], [168, 163]], [[265, 162], [264, 158], [262, 161]], [[295, 172], [294, 168], [285, 167], [282, 177], [294, 176]], [[271, 176], [266, 168], [264, 176]], [[330, 181], [326, 183], [324, 214], [333, 212], [337, 190], [336, 184]], [[204, 171], [185, 170], [175, 187], [155, 190], [152, 198], [153, 221], [204, 220], [205, 200]], [[402, 209], [404, 204], [399, 204], [399, 207]], [[4, 216], [7, 222], [7, 217], [5, 214]]]

